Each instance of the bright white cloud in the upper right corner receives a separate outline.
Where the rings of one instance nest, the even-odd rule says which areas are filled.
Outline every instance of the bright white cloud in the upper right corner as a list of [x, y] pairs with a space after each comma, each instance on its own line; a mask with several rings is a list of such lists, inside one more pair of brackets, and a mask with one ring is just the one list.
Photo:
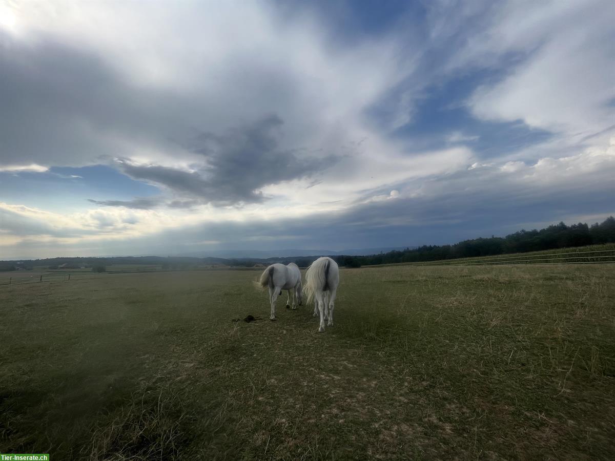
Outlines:
[[613, 125], [613, 107], [605, 103], [615, 98], [615, 68], [605, 63], [615, 55], [614, 20], [608, 2], [508, 4], [474, 43], [474, 59], [512, 51], [527, 58], [501, 81], [479, 88], [469, 101], [472, 112], [575, 140]]

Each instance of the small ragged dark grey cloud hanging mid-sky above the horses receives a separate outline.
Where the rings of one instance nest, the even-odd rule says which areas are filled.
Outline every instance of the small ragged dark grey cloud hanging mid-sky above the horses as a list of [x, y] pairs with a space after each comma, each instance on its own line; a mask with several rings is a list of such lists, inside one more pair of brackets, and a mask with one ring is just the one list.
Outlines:
[[[296, 151], [279, 149], [283, 125], [276, 115], [233, 128], [224, 135], [201, 133], [189, 149], [205, 159], [205, 166], [184, 171], [160, 165], [119, 161], [131, 178], [168, 187], [171, 191], [216, 205], [261, 202], [263, 186], [303, 178], [325, 170], [335, 157], [302, 159]], [[173, 202], [173, 203], [178, 203]]]

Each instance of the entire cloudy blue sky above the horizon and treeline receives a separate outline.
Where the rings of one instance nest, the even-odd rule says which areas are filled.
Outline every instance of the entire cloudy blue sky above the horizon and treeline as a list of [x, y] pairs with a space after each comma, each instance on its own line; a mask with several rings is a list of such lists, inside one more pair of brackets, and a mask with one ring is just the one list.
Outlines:
[[0, 1], [0, 259], [615, 215], [615, 2]]

